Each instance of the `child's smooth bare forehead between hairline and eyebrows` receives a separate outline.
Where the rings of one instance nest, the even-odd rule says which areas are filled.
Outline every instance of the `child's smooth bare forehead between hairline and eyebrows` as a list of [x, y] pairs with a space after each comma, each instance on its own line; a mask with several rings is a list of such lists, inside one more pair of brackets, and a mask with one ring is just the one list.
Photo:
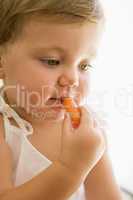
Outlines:
[[24, 24], [21, 40], [32, 47], [60, 47], [66, 51], [95, 51], [101, 32], [100, 24], [61, 24], [29, 20]]

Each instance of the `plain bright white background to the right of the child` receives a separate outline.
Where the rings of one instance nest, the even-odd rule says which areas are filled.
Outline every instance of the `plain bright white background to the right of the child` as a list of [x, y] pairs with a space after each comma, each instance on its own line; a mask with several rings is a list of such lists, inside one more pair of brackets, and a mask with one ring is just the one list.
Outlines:
[[103, 0], [106, 30], [92, 73], [90, 103], [108, 123], [110, 157], [133, 192], [133, 1]]

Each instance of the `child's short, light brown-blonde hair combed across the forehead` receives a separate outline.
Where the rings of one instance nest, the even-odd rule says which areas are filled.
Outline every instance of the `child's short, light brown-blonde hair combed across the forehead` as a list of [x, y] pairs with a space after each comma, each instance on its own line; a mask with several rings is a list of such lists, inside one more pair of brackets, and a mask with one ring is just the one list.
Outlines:
[[104, 18], [99, 0], [0, 0], [0, 46], [13, 42], [33, 15], [58, 23], [97, 23]]

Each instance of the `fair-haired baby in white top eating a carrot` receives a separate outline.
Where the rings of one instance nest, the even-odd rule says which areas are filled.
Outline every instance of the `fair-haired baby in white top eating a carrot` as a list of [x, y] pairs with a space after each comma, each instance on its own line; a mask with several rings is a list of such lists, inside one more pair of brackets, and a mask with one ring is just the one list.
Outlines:
[[122, 199], [85, 105], [103, 24], [98, 0], [0, 0], [0, 200]]

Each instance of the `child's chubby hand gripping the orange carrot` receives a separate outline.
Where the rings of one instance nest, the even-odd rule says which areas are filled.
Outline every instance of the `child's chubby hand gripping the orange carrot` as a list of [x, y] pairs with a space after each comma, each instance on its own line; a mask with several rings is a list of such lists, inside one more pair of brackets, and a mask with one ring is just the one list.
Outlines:
[[101, 129], [94, 127], [94, 119], [85, 107], [81, 111], [80, 125], [72, 128], [67, 114], [62, 128], [62, 148], [59, 161], [74, 173], [87, 174], [102, 157], [105, 142]]

